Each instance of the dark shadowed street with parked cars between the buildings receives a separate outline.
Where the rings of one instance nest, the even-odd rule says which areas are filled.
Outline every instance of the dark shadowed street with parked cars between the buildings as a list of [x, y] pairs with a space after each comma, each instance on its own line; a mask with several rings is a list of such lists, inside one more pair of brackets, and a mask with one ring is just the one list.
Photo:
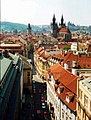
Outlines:
[[21, 120], [51, 120], [47, 106], [46, 82], [36, 74], [34, 64], [32, 71], [32, 93], [28, 89], [24, 90], [25, 102], [22, 104]]

